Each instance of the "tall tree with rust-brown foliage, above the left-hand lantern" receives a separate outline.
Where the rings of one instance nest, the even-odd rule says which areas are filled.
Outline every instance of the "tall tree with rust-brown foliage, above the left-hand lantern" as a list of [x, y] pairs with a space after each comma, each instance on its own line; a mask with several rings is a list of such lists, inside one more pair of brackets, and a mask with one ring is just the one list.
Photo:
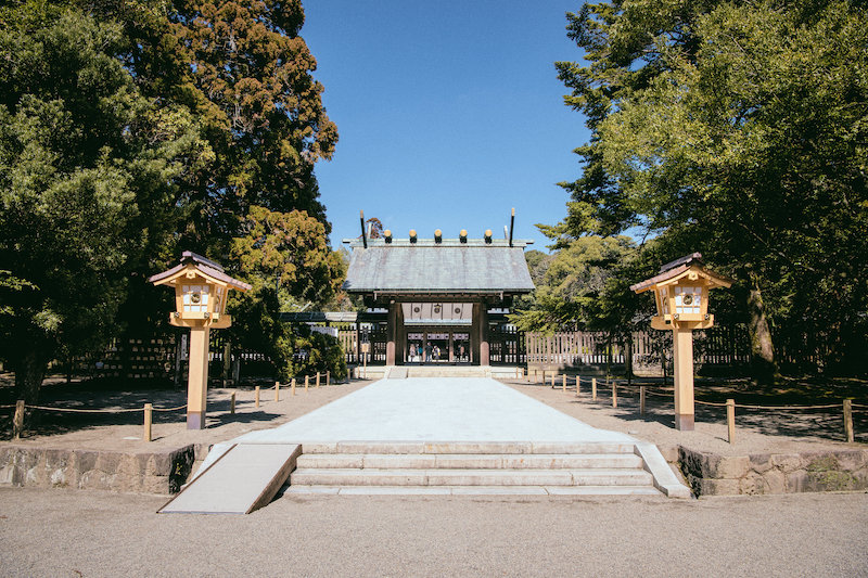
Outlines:
[[[183, 242], [225, 252], [253, 206], [304, 210], [328, 234], [314, 165], [331, 158], [337, 130], [312, 77], [316, 60], [299, 36], [301, 1], [176, 0], [168, 17], [166, 34], [142, 35], [154, 38], [137, 59], [155, 92], [202, 119], [216, 154], [187, 191]], [[157, 77], [171, 64], [176, 80], [164, 87]]]

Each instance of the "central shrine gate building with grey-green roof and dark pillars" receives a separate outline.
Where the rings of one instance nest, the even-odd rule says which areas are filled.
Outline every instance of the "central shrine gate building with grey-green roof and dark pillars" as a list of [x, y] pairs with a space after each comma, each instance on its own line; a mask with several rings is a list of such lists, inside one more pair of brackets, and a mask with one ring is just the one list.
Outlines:
[[[513, 213], [514, 218], [514, 213]], [[505, 230], [506, 231], [506, 230]], [[524, 247], [533, 241], [383, 237], [344, 240], [352, 248], [344, 291], [385, 317], [385, 364], [490, 365], [492, 333], [515, 296], [534, 291]], [[503, 342], [497, 342], [498, 347]]]

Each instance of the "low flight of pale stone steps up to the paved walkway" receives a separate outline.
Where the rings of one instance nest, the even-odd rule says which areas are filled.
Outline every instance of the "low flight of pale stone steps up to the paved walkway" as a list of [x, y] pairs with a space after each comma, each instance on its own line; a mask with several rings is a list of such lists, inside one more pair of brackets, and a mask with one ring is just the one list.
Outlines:
[[674, 487], [655, 480], [634, 444], [373, 441], [302, 451], [286, 493], [660, 496]]

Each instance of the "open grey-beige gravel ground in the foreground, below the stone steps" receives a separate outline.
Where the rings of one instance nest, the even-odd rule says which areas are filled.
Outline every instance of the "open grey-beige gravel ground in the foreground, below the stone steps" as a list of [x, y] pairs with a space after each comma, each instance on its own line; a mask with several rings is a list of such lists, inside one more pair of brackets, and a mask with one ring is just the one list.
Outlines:
[[247, 516], [0, 488], [0, 576], [867, 576], [868, 494], [297, 497]]

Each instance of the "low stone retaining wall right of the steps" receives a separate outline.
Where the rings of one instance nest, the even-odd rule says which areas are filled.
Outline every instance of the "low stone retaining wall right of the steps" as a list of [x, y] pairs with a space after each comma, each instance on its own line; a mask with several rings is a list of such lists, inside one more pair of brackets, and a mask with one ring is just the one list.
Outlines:
[[678, 448], [678, 464], [697, 496], [868, 489], [868, 450], [724, 457]]

